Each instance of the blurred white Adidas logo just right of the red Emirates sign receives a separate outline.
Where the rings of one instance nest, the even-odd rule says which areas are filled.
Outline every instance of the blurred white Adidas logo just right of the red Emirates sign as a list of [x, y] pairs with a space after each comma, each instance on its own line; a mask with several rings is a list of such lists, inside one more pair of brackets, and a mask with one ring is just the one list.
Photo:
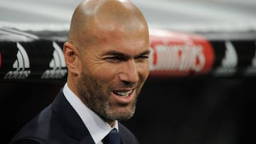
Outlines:
[[221, 65], [213, 72], [216, 75], [232, 75], [237, 70], [238, 54], [235, 51], [235, 47], [230, 41], [225, 42], [225, 57], [221, 62]]

